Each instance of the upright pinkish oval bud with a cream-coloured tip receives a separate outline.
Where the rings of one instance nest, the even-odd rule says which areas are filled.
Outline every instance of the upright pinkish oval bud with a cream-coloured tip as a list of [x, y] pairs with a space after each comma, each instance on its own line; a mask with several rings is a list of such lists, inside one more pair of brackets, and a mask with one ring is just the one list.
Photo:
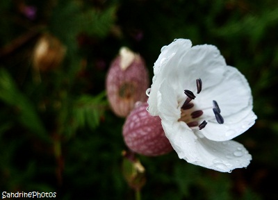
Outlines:
[[146, 101], [145, 91], [149, 88], [149, 74], [141, 56], [126, 47], [113, 60], [106, 77], [108, 101], [113, 112], [126, 117], [136, 101]]

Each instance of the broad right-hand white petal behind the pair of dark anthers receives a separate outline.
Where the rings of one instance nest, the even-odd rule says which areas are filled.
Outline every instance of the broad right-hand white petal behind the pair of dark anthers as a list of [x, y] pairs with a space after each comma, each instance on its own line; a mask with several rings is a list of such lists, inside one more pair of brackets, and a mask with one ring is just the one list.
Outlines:
[[[212, 120], [199, 131], [209, 140], [231, 140], [253, 126], [256, 119], [252, 111], [252, 94], [246, 78], [234, 67], [226, 69], [224, 78], [217, 87], [203, 90], [195, 99], [200, 109], [209, 108], [204, 110], [204, 119], [211, 116]], [[224, 124], [218, 124], [216, 119], [213, 119], [214, 114], [210, 108], [213, 100], [220, 106]]]

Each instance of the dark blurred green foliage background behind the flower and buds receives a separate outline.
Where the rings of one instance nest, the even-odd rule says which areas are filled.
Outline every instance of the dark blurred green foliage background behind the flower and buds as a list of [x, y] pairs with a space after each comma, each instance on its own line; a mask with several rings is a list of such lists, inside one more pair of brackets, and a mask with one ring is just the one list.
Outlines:
[[[258, 119], [235, 140], [253, 160], [224, 174], [175, 152], [139, 156], [142, 199], [278, 199], [278, 1], [7, 0], [0, 16], [0, 191], [134, 199], [122, 175], [124, 119], [106, 99], [108, 67], [126, 46], [145, 58], [151, 80], [161, 47], [188, 38], [217, 46], [249, 81]], [[45, 33], [67, 51], [39, 72], [33, 49]]]

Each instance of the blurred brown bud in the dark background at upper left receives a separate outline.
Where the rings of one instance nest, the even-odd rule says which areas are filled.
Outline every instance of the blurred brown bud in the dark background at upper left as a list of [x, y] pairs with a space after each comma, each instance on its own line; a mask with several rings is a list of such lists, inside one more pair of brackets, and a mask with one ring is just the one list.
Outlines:
[[55, 69], [62, 63], [66, 48], [53, 35], [42, 35], [33, 52], [33, 67], [40, 72]]

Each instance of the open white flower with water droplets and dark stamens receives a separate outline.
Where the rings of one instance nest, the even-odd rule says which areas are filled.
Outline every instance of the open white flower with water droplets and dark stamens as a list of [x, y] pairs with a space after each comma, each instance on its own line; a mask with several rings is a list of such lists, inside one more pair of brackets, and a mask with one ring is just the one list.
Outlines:
[[147, 94], [149, 113], [161, 117], [179, 158], [220, 172], [250, 164], [245, 147], [231, 140], [256, 119], [250, 86], [216, 47], [184, 39], [163, 47]]

